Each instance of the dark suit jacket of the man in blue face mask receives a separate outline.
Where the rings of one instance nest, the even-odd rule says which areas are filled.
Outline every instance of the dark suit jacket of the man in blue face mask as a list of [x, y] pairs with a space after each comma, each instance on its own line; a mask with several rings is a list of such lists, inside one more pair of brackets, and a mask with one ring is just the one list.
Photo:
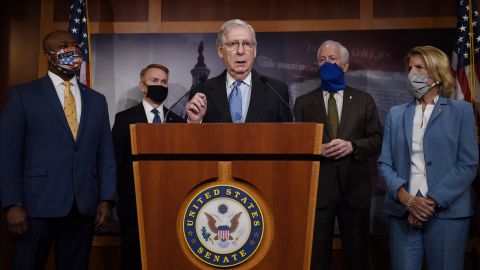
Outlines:
[[[323, 143], [331, 141], [328, 134], [327, 112], [320, 88], [297, 98], [294, 107], [299, 122], [317, 122], [324, 125]], [[363, 91], [347, 87], [343, 94], [342, 117], [337, 137], [354, 142], [358, 155], [348, 155], [340, 160], [321, 159], [317, 207], [327, 203], [334, 188], [334, 173], [340, 172], [340, 186], [344, 198], [352, 207], [370, 204], [371, 182], [368, 158], [380, 152], [383, 128], [372, 97]]]

